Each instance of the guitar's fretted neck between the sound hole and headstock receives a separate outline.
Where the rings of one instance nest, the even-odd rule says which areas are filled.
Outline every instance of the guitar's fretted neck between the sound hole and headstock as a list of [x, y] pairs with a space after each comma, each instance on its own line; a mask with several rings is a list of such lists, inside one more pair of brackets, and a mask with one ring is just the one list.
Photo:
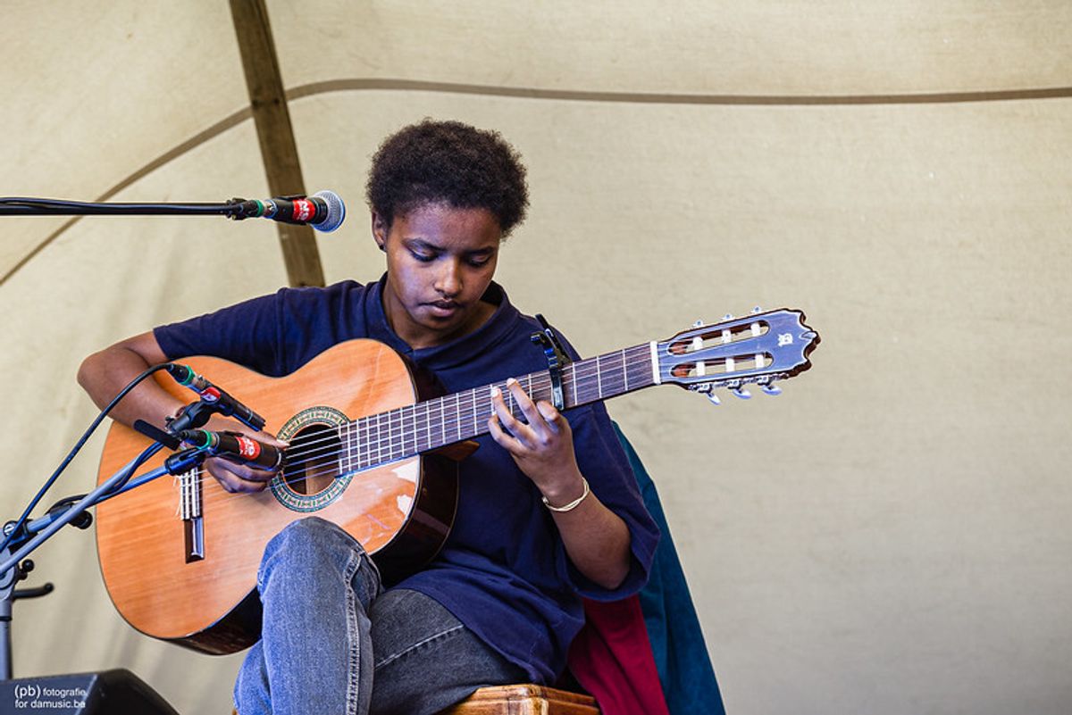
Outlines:
[[[647, 343], [569, 363], [561, 368], [565, 408], [597, 402], [656, 384], [652, 365], [652, 347]], [[534, 401], [553, 401], [549, 370], [530, 372], [516, 379]], [[341, 425], [340, 438], [345, 444], [341, 457], [343, 467], [347, 471], [367, 469], [486, 435], [488, 420], [494, 412], [491, 401], [493, 387], [503, 392], [506, 406], [511, 413], [519, 415], [521, 410], [504, 381]]]

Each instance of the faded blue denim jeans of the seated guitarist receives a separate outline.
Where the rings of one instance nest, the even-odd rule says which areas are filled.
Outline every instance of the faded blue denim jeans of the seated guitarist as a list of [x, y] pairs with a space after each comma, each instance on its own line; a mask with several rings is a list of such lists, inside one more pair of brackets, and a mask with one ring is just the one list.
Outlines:
[[240, 715], [431, 715], [526, 680], [432, 598], [384, 592], [360, 544], [323, 519], [268, 543], [257, 590], [264, 619], [235, 683]]

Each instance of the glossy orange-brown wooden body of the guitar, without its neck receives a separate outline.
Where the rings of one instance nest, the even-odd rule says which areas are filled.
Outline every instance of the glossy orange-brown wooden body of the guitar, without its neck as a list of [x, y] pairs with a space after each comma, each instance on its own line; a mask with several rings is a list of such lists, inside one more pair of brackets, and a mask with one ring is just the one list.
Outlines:
[[[214, 358], [183, 362], [256, 409], [271, 432], [316, 408], [355, 420], [426, 397], [403, 359], [374, 340], [340, 344], [283, 378], [267, 378]], [[190, 400], [192, 393], [170, 378], [161, 376], [159, 383]], [[113, 426], [100, 481], [148, 443], [123, 425]], [[147, 468], [162, 461], [158, 456]], [[337, 499], [314, 511], [286, 506], [272, 488], [230, 495], [207, 472], [202, 476], [204, 559], [187, 558], [178, 480], [169, 476], [100, 504], [96, 541], [108, 594], [132, 626], [218, 654], [241, 650], [259, 637], [260, 556], [268, 541], [292, 521], [317, 516], [339, 524], [373, 554], [385, 581], [391, 582], [434, 556], [450, 530], [457, 503], [457, 467], [442, 457], [413, 457], [356, 473]], [[282, 478], [276, 477], [276, 486]]]

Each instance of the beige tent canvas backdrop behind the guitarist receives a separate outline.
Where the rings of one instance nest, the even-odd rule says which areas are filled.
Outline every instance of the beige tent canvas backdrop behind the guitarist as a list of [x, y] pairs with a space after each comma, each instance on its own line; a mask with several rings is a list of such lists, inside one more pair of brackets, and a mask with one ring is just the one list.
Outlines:
[[[383, 270], [377, 142], [455, 118], [525, 157], [498, 277], [583, 354], [756, 305], [822, 333], [777, 399], [610, 407], [728, 710], [1068, 711], [1068, 3], [266, 4], [308, 189], [348, 207], [327, 282]], [[0, 54], [0, 195], [271, 195], [225, 3], [15, 0]], [[95, 414], [84, 355], [288, 279], [274, 225], [209, 217], [0, 217], [0, 275], [5, 517]], [[16, 606], [16, 675], [125, 667], [227, 712], [241, 656], [133, 632], [89, 533], [34, 558], [57, 590]]]

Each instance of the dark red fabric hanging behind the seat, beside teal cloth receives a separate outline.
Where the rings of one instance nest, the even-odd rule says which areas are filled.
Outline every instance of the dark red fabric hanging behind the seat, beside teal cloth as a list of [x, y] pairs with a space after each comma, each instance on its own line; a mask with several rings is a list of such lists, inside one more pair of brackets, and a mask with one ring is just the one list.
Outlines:
[[569, 669], [602, 715], [669, 715], [640, 599], [585, 599], [584, 615]]

